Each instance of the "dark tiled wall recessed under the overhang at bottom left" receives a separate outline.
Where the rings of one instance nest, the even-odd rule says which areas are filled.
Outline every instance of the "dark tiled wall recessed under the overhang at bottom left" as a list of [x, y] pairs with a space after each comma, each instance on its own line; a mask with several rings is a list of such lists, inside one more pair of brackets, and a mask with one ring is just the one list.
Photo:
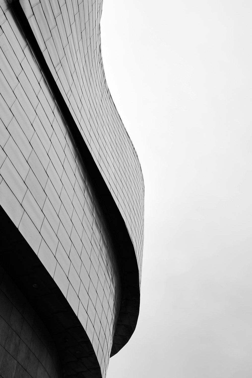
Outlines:
[[0, 376], [61, 378], [54, 341], [0, 266]]

